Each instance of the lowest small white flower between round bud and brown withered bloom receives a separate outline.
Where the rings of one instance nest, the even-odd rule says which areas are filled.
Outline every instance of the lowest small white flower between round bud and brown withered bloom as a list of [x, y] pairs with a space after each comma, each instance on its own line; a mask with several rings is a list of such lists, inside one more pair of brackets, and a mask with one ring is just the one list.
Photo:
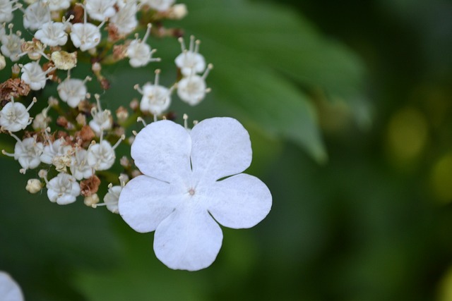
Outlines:
[[80, 185], [76, 178], [67, 173], [59, 173], [47, 182], [47, 197], [50, 202], [57, 202], [60, 205], [71, 204], [76, 202], [78, 195], [80, 195]]

